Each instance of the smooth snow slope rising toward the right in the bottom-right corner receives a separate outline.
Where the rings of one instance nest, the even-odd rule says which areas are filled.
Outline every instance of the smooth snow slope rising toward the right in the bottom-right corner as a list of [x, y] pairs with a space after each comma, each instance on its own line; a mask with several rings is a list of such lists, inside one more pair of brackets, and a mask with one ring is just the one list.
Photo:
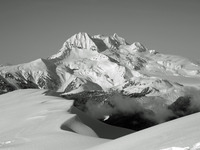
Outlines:
[[[197, 113], [118, 138], [88, 150], [199, 150], [199, 144], [196, 144], [200, 142], [199, 124], [200, 113]], [[193, 147], [194, 144], [196, 146]]]

